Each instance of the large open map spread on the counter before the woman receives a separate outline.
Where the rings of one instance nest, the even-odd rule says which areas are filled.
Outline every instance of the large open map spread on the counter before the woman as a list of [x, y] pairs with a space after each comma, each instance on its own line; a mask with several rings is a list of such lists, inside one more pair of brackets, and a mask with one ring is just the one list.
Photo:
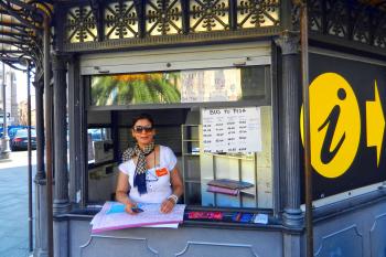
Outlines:
[[128, 227], [178, 227], [183, 221], [184, 204], [176, 204], [171, 213], [160, 212], [161, 204], [139, 203], [142, 213], [130, 215], [125, 205], [118, 202], [106, 202], [92, 221], [93, 233], [122, 229]]

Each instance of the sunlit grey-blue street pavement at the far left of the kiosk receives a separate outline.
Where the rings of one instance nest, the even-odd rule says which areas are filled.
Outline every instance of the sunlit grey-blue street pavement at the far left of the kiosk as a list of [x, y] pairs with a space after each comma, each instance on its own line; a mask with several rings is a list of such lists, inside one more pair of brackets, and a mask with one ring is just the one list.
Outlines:
[[[35, 160], [33, 151], [33, 175]], [[28, 204], [28, 152], [11, 152], [0, 160], [0, 257], [30, 256]]]

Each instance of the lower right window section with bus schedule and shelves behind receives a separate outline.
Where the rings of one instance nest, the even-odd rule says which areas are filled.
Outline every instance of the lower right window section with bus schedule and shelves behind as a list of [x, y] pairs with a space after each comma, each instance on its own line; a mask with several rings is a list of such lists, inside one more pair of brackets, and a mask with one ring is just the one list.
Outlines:
[[210, 109], [218, 117], [182, 125], [186, 204], [272, 207], [271, 107], [249, 107], [258, 110], [251, 117], [233, 115], [239, 109], [246, 108]]

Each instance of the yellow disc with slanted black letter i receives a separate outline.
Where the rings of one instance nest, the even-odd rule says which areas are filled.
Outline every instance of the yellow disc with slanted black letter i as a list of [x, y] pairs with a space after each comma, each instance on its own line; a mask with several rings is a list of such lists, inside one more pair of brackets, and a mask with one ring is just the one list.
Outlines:
[[[300, 127], [303, 141], [303, 107]], [[325, 178], [337, 178], [351, 167], [361, 139], [361, 114], [350, 84], [336, 73], [324, 73], [310, 85], [311, 164]]]

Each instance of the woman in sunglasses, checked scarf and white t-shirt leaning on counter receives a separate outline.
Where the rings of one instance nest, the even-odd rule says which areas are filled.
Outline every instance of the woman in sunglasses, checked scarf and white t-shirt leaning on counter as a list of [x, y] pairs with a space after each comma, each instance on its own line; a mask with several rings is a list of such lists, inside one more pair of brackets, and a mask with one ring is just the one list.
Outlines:
[[141, 114], [132, 120], [137, 143], [122, 154], [116, 199], [129, 214], [138, 212], [137, 203], [160, 203], [162, 213], [170, 213], [183, 194], [176, 157], [165, 146], [154, 144], [154, 122]]

